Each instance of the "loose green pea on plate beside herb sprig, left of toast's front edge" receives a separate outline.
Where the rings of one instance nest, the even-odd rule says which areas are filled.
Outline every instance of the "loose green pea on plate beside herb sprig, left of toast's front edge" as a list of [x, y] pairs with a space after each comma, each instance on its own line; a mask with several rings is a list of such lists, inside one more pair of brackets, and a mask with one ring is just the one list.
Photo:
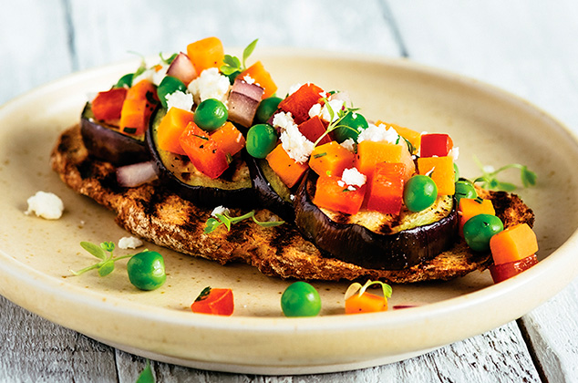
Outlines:
[[140, 290], [154, 290], [165, 283], [165, 263], [162, 255], [157, 252], [142, 252], [135, 254], [127, 264], [129, 281]]

